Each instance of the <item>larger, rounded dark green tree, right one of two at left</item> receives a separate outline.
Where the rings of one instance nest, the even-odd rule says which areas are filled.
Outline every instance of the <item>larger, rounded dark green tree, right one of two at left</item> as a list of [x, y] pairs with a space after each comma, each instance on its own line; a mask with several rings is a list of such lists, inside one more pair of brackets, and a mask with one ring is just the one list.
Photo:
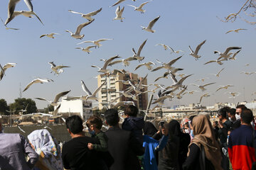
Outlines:
[[24, 110], [26, 106], [28, 106], [28, 108], [23, 114], [36, 113], [36, 102], [33, 101], [31, 98], [16, 98], [14, 100], [14, 103], [11, 103], [9, 105], [10, 110], [15, 111], [16, 114], [18, 114], [21, 110]]

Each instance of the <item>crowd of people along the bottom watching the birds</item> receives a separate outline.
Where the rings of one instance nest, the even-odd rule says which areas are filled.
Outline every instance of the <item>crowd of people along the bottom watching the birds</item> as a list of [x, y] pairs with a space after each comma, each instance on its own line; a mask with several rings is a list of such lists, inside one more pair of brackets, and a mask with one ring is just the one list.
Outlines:
[[[126, 118], [119, 125], [115, 109], [105, 111], [108, 130], [102, 132], [102, 119], [92, 115], [83, 132], [82, 119], [72, 115], [65, 120], [72, 138], [62, 150], [48, 130], [28, 135], [2, 132], [0, 123], [0, 169], [255, 169], [255, 120], [243, 105], [220, 108], [218, 121], [209, 115], [171, 120], [155, 127], [138, 117], [138, 108], [124, 108]], [[24, 157], [26, 155], [26, 157]]]

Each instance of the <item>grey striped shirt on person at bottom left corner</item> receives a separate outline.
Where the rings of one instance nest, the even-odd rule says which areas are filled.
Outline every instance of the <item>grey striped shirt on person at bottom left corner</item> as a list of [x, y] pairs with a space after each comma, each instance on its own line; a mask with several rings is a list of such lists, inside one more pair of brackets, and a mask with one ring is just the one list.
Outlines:
[[[25, 155], [29, 157], [26, 162]], [[18, 133], [0, 133], [0, 170], [32, 169], [38, 154], [28, 141]]]

